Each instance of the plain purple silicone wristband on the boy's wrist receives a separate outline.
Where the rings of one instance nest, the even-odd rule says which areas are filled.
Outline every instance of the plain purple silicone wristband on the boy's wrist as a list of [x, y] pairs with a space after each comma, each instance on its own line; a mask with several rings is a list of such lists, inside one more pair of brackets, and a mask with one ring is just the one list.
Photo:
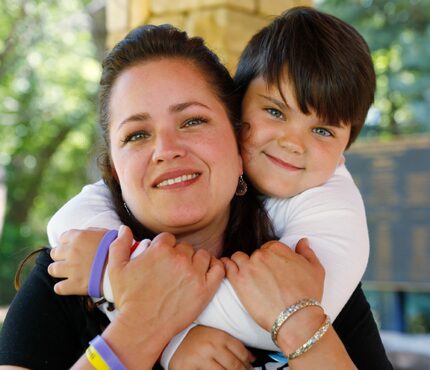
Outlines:
[[88, 295], [90, 297], [101, 297], [100, 282], [102, 279], [103, 268], [109, 252], [109, 247], [117, 237], [118, 231], [110, 230], [103, 236], [99, 246], [97, 247], [96, 256], [94, 257], [93, 265], [91, 266], [90, 281], [88, 282]]

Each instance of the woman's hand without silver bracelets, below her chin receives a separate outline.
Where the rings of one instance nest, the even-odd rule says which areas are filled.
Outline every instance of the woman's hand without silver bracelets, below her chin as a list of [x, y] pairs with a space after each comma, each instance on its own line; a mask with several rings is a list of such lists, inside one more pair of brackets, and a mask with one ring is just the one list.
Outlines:
[[212, 299], [225, 276], [224, 266], [205, 250], [176, 244], [172, 234], [156, 236], [130, 260], [132, 243], [130, 229], [122, 226], [109, 251], [107, 271], [118, 316], [131, 325], [153, 325], [170, 340]]

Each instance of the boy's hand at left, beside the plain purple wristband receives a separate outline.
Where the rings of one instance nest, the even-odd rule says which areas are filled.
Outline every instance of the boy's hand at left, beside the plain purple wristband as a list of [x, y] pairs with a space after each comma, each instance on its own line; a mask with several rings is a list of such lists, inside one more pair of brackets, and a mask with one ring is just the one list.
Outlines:
[[100, 240], [106, 229], [69, 230], [60, 237], [60, 244], [51, 249], [55, 261], [48, 266], [48, 273], [55, 278], [65, 278], [54, 285], [59, 295], [88, 295], [91, 266]]

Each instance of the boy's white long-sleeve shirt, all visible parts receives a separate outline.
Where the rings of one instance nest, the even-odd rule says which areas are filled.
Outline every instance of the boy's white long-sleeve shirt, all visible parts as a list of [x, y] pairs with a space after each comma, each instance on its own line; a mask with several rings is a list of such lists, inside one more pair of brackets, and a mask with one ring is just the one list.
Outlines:
[[[326, 271], [322, 305], [334, 320], [361, 280], [369, 256], [364, 204], [351, 175], [345, 166], [339, 166], [325, 184], [292, 198], [269, 198], [265, 205], [282, 242], [294, 248], [301, 238], [309, 239]], [[69, 229], [117, 229], [120, 225], [110, 192], [99, 181], [85, 186], [53, 216], [48, 224], [49, 242], [56, 246], [60, 235]], [[134, 255], [144, 248], [142, 243]], [[113, 300], [107, 275], [104, 292]], [[115, 314], [109, 315], [112, 319]], [[195, 321], [194, 325], [198, 324], [224, 330], [251, 347], [278, 350], [270, 333], [249, 316], [227, 279]], [[166, 347], [162, 356], [165, 368], [191, 327]]]

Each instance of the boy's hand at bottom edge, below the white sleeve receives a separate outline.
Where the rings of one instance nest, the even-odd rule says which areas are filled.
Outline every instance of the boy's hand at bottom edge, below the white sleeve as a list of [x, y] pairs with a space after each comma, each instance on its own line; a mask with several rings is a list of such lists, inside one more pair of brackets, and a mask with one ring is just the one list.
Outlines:
[[170, 360], [170, 370], [249, 370], [253, 355], [226, 332], [196, 326], [184, 338]]

